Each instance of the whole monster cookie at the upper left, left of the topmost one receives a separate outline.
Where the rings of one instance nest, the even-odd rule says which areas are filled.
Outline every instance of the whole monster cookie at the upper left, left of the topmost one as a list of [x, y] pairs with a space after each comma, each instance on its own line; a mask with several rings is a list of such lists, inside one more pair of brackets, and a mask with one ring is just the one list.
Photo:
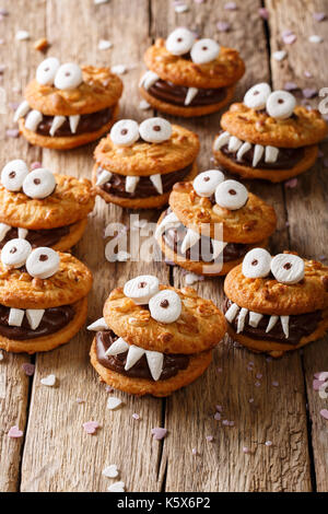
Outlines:
[[69, 150], [98, 139], [118, 114], [119, 77], [108, 68], [45, 59], [25, 89], [14, 120], [32, 144]]

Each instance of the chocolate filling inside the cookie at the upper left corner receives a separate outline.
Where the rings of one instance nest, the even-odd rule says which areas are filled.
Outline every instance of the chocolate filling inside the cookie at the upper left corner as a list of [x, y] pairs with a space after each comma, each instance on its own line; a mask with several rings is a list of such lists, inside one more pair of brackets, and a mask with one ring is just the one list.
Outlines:
[[[96, 113], [82, 114], [80, 121], [77, 127], [75, 133], [71, 131], [69, 117], [66, 118], [65, 122], [56, 130], [55, 138], [60, 137], [71, 137], [79, 136], [80, 133], [85, 132], [96, 132], [104, 125], [107, 125], [108, 121], [113, 118], [113, 108], [106, 108], [103, 110], [97, 110]], [[54, 121], [54, 116], [43, 115], [42, 122], [37, 126], [37, 133], [42, 136], [49, 136], [50, 128]]]

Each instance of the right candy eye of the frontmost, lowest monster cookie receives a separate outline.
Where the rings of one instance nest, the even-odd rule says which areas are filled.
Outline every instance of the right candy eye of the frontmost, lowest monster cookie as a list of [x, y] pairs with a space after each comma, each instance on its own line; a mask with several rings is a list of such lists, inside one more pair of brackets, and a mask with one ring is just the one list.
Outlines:
[[181, 301], [175, 291], [164, 290], [150, 299], [152, 318], [160, 323], [174, 323], [181, 314]]

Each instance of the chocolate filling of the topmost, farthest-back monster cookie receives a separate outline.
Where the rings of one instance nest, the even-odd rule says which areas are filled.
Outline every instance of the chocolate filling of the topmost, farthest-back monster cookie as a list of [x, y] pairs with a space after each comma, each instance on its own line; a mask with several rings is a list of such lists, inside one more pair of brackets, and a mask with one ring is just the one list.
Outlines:
[[198, 107], [201, 105], [219, 104], [226, 97], [226, 89], [199, 89], [197, 95], [192, 98], [189, 105], [185, 105], [185, 100], [188, 93], [188, 87], [184, 85], [176, 85], [173, 82], [159, 79], [148, 90], [149, 94], [157, 100], [168, 104], [181, 105], [184, 107]]

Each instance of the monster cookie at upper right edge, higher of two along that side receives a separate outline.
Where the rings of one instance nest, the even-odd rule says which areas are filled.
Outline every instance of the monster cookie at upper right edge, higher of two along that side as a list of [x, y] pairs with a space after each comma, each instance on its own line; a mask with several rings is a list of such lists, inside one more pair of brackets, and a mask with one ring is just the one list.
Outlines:
[[250, 87], [244, 103], [231, 105], [221, 126], [213, 143], [218, 163], [242, 177], [273, 183], [308, 170], [327, 135], [318, 110], [296, 106], [291, 93], [271, 92], [266, 83]]

